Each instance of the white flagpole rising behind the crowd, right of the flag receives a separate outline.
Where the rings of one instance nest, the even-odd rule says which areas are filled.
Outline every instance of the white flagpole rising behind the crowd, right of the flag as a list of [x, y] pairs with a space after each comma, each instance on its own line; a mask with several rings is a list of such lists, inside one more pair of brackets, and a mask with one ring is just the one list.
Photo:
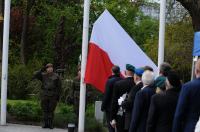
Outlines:
[[166, 0], [160, 1], [160, 28], [159, 28], [159, 46], [158, 46], [158, 68], [164, 62], [165, 48], [165, 12]]

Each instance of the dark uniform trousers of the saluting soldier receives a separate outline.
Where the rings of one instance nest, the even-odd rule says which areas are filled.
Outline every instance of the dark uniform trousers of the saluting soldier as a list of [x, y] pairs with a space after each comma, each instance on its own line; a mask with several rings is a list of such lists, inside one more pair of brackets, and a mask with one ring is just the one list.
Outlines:
[[54, 111], [57, 106], [57, 99], [56, 97], [42, 97], [41, 98], [41, 107], [43, 112], [44, 121], [46, 120], [53, 120]]

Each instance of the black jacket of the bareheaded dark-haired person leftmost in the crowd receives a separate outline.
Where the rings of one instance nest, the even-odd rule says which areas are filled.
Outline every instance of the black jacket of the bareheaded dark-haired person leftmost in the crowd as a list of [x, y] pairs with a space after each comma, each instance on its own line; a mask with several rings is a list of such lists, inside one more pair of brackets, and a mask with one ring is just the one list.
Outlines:
[[105, 112], [111, 111], [111, 102], [114, 84], [122, 78], [117, 75], [110, 76], [106, 82], [105, 93], [102, 100], [101, 110]]

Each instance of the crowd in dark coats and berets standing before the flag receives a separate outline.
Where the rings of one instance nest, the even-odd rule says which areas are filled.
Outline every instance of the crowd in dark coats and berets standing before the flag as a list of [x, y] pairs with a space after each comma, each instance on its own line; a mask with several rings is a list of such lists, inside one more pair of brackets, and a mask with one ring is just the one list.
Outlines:
[[109, 132], [200, 132], [200, 60], [186, 84], [168, 63], [157, 78], [149, 66], [127, 64], [125, 78], [111, 70], [101, 107]]

